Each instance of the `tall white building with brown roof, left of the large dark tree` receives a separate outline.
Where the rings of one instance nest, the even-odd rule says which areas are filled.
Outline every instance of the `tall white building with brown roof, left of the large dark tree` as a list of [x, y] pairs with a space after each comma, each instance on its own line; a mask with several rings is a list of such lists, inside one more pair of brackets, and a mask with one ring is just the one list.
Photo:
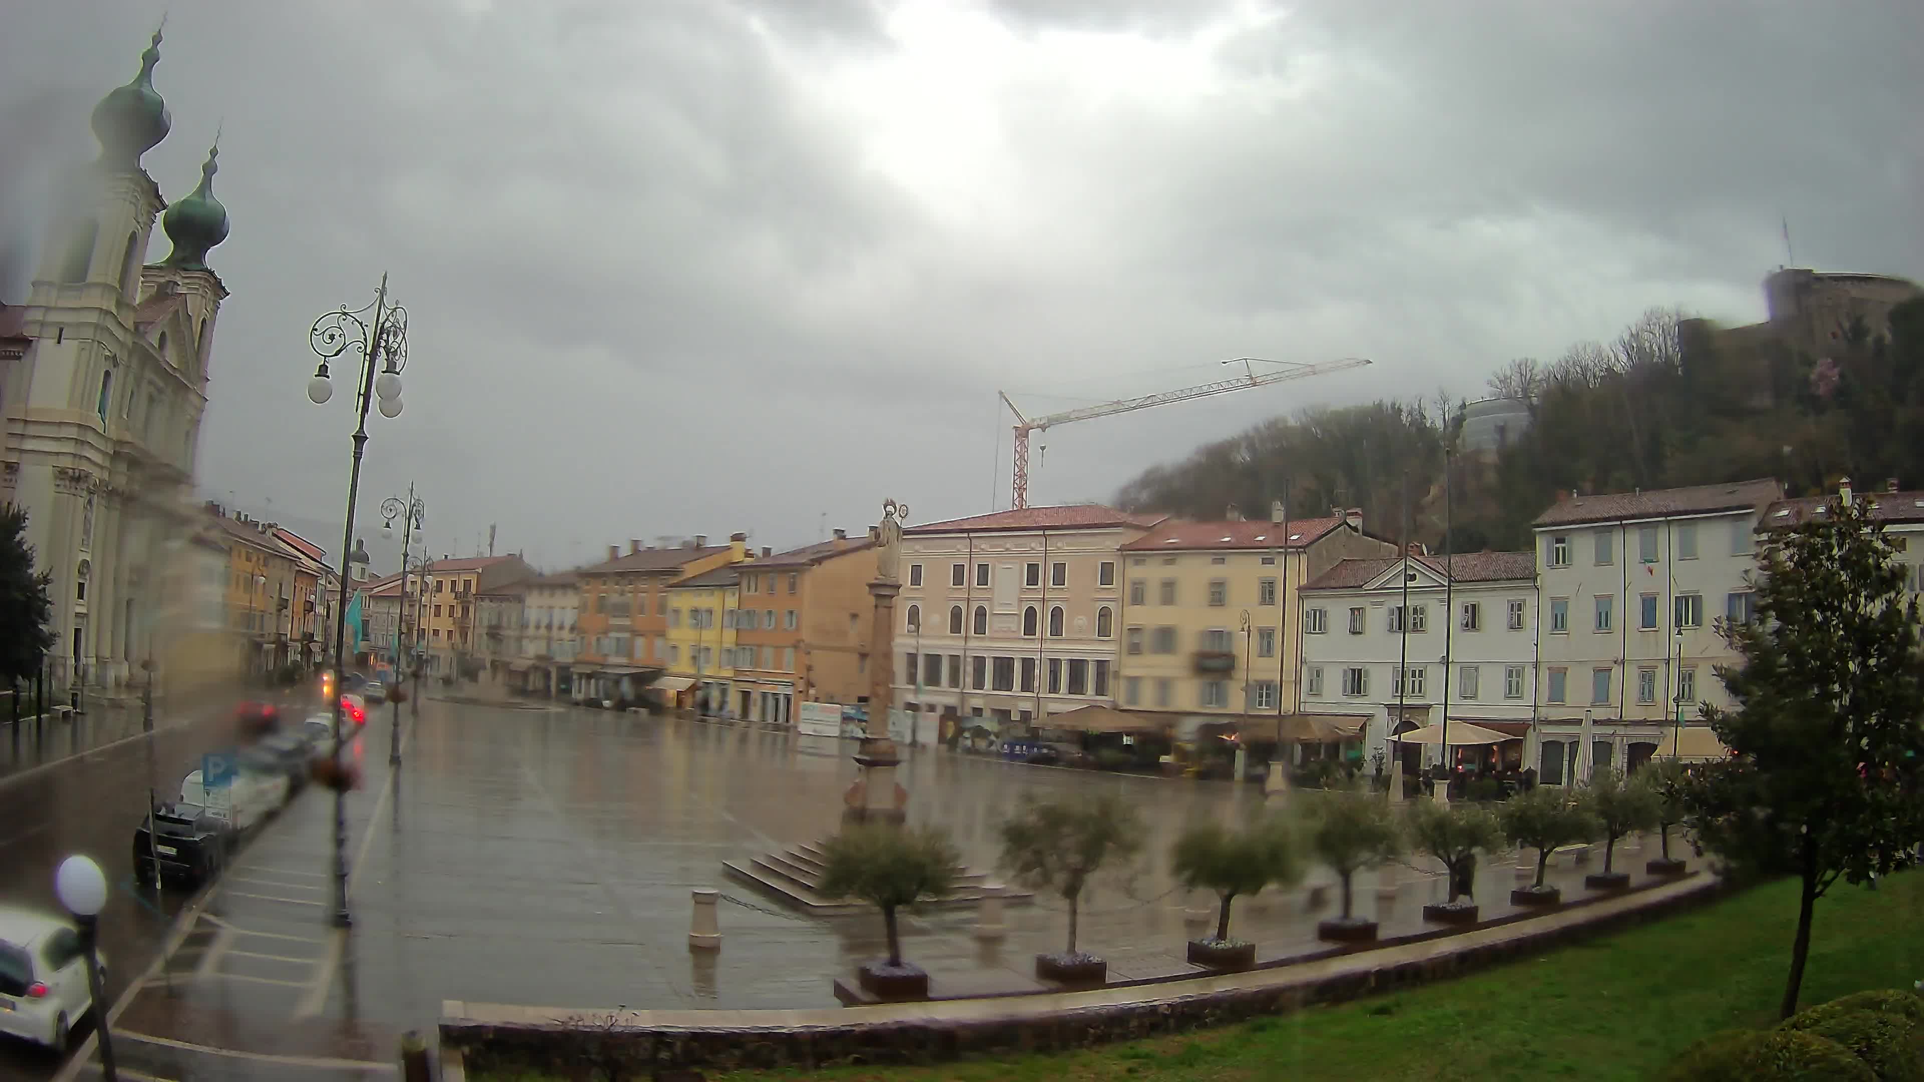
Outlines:
[[1593, 764], [1622, 768], [1668, 753], [1701, 703], [1730, 705], [1714, 666], [1737, 657], [1714, 620], [1749, 616], [1755, 531], [1782, 497], [1772, 479], [1572, 493], [1537, 516], [1539, 778], [1572, 776], [1585, 712]]

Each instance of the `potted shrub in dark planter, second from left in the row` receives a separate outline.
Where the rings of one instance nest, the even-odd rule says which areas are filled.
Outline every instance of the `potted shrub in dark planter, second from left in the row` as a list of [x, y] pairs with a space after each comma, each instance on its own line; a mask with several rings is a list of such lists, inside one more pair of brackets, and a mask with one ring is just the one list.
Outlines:
[[1101, 984], [1108, 963], [1076, 949], [1081, 891], [1108, 864], [1127, 861], [1143, 845], [1135, 807], [1116, 795], [1037, 801], [1000, 826], [1002, 870], [1035, 891], [1052, 889], [1070, 907], [1068, 945], [1035, 955], [1035, 976], [1066, 984]]

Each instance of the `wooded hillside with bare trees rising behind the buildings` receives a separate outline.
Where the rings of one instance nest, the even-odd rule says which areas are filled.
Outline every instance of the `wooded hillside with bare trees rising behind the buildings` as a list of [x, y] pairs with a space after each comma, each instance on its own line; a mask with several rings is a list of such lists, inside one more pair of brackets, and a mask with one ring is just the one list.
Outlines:
[[[1530, 520], [1560, 489], [1780, 477], [1807, 495], [1841, 476], [1924, 487], [1924, 300], [1891, 310], [1887, 337], [1841, 327], [1830, 358], [1737, 348], [1689, 323], [1684, 343], [1682, 318], [1653, 308], [1610, 343], [1491, 374], [1489, 395], [1524, 399], [1532, 424], [1501, 452], [1455, 456], [1455, 551], [1528, 547]], [[1297, 518], [1360, 506], [1372, 533], [1401, 537], [1406, 476], [1410, 535], [1441, 549], [1443, 449], [1462, 406], [1439, 393], [1274, 418], [1145, 470], [1116, 501], [1193, 518], [1228, 504], [1258, 518], [1276, 499]]]

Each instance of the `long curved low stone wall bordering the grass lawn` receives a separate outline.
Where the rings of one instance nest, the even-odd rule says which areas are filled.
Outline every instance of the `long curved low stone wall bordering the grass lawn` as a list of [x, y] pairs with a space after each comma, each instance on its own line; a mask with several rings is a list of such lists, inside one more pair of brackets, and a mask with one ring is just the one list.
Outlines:
[[[1133, 982], [1077, 993], [1025, 993], [848, 1011], [562, 1011], [448, 1003], [441, 1043], [468, 1070], [566, 1074], [600, 1067], [633, 1072], [670, 1067], [716, 1070], [850, 1063], [939, 1063], [974, 1055], [1066, 1051], [1108, 1042], [1220, 1026], [1316, 1003], [1341, 1003], [1449, 980], [1518, 955], [1693, 909], [1724, 893], [1714, 876], [1657, 884], [1660, 897], [1585, 899], [1470, 930], [1424, 932], [1374, 947], [1333, 949], [1245, 974]], [[1605, 907], [1589, 918], [1583, 909]], [[1562, 920], [1558, 920], [1562, 916]], [[1451, 943], [1449, 940], [1460, 940]], [[1295, 972], [1291, 972], [1295, 968]], [[1156, 988], [1147, 988], [1156, 984]], [[1106, 999], [1106, 1001], [1104, 1001]]]

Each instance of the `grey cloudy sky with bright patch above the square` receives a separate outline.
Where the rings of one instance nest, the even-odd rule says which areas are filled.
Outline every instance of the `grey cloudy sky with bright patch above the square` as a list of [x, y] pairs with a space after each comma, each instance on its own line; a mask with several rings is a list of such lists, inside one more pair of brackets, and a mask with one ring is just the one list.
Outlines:
[[1031, 502], [1104, 499], [1655, 304], [1757, 320], [1785, 218], [1801, 266], [1924, 277], [1916, 0], [13, 4], [10, 231], [162, 8], [144, 164], [185, 196], [223, 125], [233, 219], [204, 489], [339, 522], [306, 331], [389, 271], [412, 364], [364, 506], [416, 481], [437, 553], [983, 512], [997, 389], [1374, 358], [1037, 437]]

